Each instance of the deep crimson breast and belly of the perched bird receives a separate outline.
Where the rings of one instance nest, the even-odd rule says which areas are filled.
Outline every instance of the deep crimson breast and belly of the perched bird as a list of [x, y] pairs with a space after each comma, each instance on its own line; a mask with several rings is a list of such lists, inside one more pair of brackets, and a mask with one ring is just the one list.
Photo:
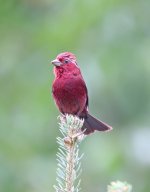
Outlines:
[[75, 76], [59, 78], [54, 80], [53, 96], [62, 113], [78, 114], [86, 104], [86, 86], [81, 78]]

